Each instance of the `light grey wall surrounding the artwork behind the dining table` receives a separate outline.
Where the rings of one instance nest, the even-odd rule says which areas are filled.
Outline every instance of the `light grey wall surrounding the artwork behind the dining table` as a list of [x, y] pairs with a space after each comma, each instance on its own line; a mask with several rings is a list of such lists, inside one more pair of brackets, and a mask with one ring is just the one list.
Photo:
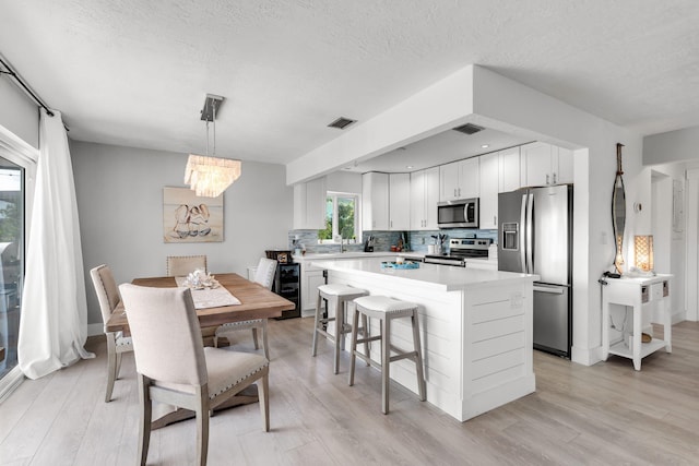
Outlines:
[[71, 141], [88, 323], [102, 322], [90, 270], [111, 267], [118, 283], [165, 275], [167, 255], [206, 254], [212, 273], [247, 277], [264, 250], [286, 248], [293, 192], [281, 165], [242, 163], [224, 194], [225, 240], [163, 242], [163, 187], [181, 187], [187, 154]]

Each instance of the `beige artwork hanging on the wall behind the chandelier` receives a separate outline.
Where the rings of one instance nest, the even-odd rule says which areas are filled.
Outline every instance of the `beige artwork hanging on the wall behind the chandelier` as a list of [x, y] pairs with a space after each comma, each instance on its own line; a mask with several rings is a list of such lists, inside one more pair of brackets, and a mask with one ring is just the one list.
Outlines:
[[200, 198], [189, 188], [163, 188], [165, 242], [222, 242], [223, 194]]

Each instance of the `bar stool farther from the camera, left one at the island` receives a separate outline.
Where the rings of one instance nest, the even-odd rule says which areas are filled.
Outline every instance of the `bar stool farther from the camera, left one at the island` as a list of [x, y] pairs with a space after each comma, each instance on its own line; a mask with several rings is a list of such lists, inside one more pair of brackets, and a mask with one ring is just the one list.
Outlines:
[[[368, 292], [364, 289], [354, 288], [347, 285], [340, 284], [330, 284], [330, 285], [321, 285], [318, 287], [318, 299], [316, 301], [316, 325], [313, 331], [313, 347], [312, 347], [312, 356], [316, 356], [316, 351], [318, 348], [318, 334], [323, 335], [325, 338], [334, 342], [335, 344], [335, 362], [334, 362], [334, 371], [339, 372], [340, 369], [340, 344], [344, 348], [344, 339], [343, 335], [351, 332], [351, 326], [345, 324], [345, 307], [347, 301], [352, 301], [355, 298], [359, 298], [362, 296], [366, 296]], [[335, 315], [331, 318], [328, 315], [327, 318], [322, 316], [321, 312], [321, 303], [322, 300], [327, 300], [328, 303], [334, 302]], [[330, 307], [330, 306], [329, 306]], [[325, 328], [329, 322], [335, 322], [335, 334], [332, 335]], [[366, 319], [364, 320], [366, 325]], [[356, 325], [356, 324], [355, 324]], [[368, 343], [365, 345], [365, 350], [368, 351]]]

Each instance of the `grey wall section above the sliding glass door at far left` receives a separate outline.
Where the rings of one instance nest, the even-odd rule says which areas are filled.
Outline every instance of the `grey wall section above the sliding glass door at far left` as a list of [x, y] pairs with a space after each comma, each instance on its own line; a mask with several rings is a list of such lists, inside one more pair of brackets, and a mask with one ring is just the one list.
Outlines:
[[0, 74], [0, 126], [38, 148], [38, 107], [4, 74]]

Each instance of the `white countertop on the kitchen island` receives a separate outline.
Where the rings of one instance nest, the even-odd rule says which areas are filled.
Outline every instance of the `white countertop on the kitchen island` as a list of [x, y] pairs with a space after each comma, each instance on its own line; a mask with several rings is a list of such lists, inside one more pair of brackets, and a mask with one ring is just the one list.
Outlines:
[[496, 282], [534, 282], [538, 275], [518, 274], [467, 267], [452, 267], [420, 263], [419, 268], [381, 268], [381, 259], [352, 259], [346, 261], [313, 260], [311, 265], [329, 271], [348, 272], [357, 275], [372, 276], [381, 279], [405, 282], [406, 286], [419, 284], [436, 289], [453, 291]]

